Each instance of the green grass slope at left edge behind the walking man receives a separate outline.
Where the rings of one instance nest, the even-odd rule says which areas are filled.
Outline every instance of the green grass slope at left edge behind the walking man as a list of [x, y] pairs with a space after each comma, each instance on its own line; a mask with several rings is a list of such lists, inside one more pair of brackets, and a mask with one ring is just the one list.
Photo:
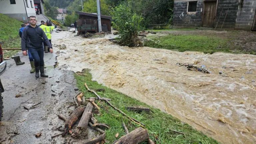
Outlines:
[[[19, 29], [22, 23], [23, 22], [0, 13], [0, 42], [2, 43], [2, 48], [21, 47]], [[11, 56], [17, 52], [18, 50], [4, 51], [4, 57]]]

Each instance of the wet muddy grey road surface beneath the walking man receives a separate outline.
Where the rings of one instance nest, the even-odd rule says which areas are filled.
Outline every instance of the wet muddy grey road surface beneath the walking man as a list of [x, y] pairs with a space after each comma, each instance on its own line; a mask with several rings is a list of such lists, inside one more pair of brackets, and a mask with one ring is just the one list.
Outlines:
[[[56, 55], [47, 53], [44, 60], [49, 78], [36, 79], [35, 73], [29, 73], [31, 67], [28, 56], [22, 56], [21, 52], [18, 55], [25, 64], [16, 66], [13, 59], [7, 60], [7, 70], [1, 76], [5, 92], [2, 93], [4, 116], [0, 124], [0, 144], [64, 143], [68, 137], [51, 139], [51, 136], [61, 133], [57, 127], [64, 128], [64, 122], [57, 115], [68, 117], [75, 109], [73, 97], [78, 91], [74, 90], [74, 72], [54, 69]], [[38, 105], [30, 110], [24, 109], [24, 106], [35, 104]], [[93, 133], [88, 137], [91, 139]]]

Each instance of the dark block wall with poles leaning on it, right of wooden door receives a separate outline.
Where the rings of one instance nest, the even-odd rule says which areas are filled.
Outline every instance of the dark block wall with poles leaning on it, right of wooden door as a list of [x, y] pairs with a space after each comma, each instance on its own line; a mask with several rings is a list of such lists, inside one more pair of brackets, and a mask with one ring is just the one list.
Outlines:
[[[221, 13], [222, 8], [223, 8], [223, 11]], [[225, 22], [222, 28], [234, 29], [235, 23], [236, 23], [237, 10], [238, 10], [238, 0], [218, 0], [215, 26], [217, 24], [218, 19], [220, 18], [217, 28], [221, 28], [224, 22], [225, 16], [227, 14], [227, 17], [225, 19]]]

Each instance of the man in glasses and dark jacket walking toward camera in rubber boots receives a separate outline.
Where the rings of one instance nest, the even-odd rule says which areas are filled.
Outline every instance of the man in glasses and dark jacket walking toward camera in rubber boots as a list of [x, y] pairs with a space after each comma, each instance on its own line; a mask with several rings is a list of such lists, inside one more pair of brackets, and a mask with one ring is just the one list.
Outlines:
[[22, 32], [21, 38], [21, 49], [23, 55], [27, 55], [26, 46], [34, 58], [35, 61], [35, 70], [36, 70], [36, 78], [39, 77], [39, 70], [41, 77], [48, 77], [48, 75], [44, 74], [44, 48], [43, 41], [46, 42], [47, 46], [50, 49], [50, 52], [53, 53], [52, 45], [49, 42], [47, 36], [44, 31], [38, 27], [37, 20], [35, 16], [29, 17], [30, 25], [26, 26]]

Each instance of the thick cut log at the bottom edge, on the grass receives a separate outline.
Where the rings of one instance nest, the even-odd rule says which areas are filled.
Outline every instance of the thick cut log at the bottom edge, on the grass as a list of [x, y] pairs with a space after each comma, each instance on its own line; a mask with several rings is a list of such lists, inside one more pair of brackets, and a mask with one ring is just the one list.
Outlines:
[[138, 144], [149, 139], [149, 134], [146, 129], [139, 127], [130, 133], [122, 136], [113, 144]]

